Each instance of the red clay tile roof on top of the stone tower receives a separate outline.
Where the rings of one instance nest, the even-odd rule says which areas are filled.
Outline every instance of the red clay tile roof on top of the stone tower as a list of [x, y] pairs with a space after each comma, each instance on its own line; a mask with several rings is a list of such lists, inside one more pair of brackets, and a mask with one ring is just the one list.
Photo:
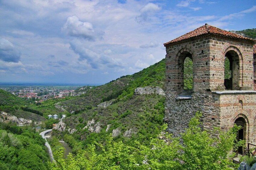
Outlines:
[[164, 46], [169, 45], [169, 44], [174, 43], [174, 42], [180, 42], [182, 40], [186, 40], [186, 39], [190, 39], [190, 38], [193, 38], [193, 37], [206, 35], [206, 34], [215, 34], [215, 35], [225, 36], [225, 37], [229, 37], [229, 38], [254, 41], [253, 39], [250, 39], [250, 38], [247, 38], [247, 37], [244, 37], [244, 36], [240, 36], [238, 34], [228, 32], [228, 31], [216, 28], [214, 26], [210, 26], [208, 24], [205, 24], [205, 25], [195, 29], [194, 31], [190, 31], [187, 34], [184, 34], [183, 36], [180, 36], [180, 37], [178, 37], [174, 40], [171, 40], [171, 41], [165, 43]]

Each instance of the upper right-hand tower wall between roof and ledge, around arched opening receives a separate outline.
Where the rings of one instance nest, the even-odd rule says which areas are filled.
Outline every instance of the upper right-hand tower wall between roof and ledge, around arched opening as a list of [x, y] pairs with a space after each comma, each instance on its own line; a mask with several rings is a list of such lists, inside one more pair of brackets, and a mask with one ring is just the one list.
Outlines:
[[212, 37], [210, 47], [210, 89], [224, 90], [225, 54], [233, 50], [239, 57], [239, 90], [253, 90], [253, 49], [252, 44]]

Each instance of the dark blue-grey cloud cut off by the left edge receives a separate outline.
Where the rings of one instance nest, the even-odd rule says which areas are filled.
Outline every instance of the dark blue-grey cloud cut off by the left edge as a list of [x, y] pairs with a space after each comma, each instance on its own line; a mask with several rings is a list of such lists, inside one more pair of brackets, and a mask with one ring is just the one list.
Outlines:
[[0, 39], [0, 60], [18, 63], [21, 53], [7, 39]]

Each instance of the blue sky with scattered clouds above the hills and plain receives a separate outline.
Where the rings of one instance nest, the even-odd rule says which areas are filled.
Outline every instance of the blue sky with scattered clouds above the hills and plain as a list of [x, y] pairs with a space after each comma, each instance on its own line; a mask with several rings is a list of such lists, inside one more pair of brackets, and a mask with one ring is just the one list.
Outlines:
[[1, 0], [0, 82], [104, 84], [205, 23], [256, 28], [256, 1]]

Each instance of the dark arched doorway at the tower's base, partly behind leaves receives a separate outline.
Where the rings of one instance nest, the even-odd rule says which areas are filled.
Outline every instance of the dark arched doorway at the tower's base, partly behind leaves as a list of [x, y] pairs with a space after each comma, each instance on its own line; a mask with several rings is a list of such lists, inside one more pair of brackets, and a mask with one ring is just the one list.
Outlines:
[[[235, 120], [235, 124], [237, 126], [241, 126], [240, 130], [237, 132], [237, 140], [245, 140], [245, 131], [246, 131], [246, 123], [243, 117], [239, 117]], [[243, 147], [238, 147], [238, 154], [243, 155]]]

